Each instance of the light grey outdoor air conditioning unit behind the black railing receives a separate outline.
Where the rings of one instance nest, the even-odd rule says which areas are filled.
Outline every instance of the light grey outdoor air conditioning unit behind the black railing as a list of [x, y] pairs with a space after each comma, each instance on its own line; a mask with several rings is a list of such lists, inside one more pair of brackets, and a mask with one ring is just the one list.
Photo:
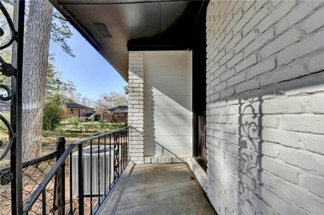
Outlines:
[[[106, 150], [106, 153], [104, 152]], [[100, 195], [105, 192], [104, 174], [106, 167], [106, 189], [109, 187], [109, 163], [110, 163], [110, 182], [114, 181], [114, 148], [112, 146], [100, 145], [92, 146], [92, 157], [90, 157], [91, 147], [84, 148], [84, 194], [91, 195], [90, 176], [92, 176], [92, 195], [98, 195], [98, 156], [100, 160]], [[119, 160], [121, 158], [121, 148], [119, 148]], [[92, 163], [90, 162], [92, 159]], [[109, 162], [110, 160], [110, 162]], [[71, 165], [71, 164], [70, 164]], [[90, 172], [90, 165], [92, 165], [92, 173]], [[71, 167], [71, 166], [70, 166]], [[72, 153], [72, 195], [78, 195], [78, 151]]]

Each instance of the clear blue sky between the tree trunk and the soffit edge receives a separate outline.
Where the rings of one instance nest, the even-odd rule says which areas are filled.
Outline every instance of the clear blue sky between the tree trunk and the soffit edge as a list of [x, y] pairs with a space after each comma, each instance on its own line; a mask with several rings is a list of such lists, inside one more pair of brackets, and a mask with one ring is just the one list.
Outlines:
[[75, 58], [66, 55], [52, 40], [50, 42], [50, 53], [55, 53], [56, 71], [62, 73], [63, 80], [72, 81], [77, 92], [94, 100], [103, 93], [123, 92], [126, 81], [85, 38], [73, 27], [70, 29], [73, 35], [68, 39], [68, 44]]

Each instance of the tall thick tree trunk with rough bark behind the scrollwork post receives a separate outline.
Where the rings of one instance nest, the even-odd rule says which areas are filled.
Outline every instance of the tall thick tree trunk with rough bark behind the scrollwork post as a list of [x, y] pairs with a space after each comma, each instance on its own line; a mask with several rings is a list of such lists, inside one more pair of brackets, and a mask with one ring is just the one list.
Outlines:
[[28, 2], [22, 87], [23, 160], [38, 157], [41, 153], [52, 11], [49, 1]]

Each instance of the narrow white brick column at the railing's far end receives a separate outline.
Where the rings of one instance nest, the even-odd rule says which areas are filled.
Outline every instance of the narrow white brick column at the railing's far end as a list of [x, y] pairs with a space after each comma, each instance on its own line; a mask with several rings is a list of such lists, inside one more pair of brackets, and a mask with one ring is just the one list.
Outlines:
[[129, 51], [128, 125], [131, 162], [144, 161], [144, 52]]

